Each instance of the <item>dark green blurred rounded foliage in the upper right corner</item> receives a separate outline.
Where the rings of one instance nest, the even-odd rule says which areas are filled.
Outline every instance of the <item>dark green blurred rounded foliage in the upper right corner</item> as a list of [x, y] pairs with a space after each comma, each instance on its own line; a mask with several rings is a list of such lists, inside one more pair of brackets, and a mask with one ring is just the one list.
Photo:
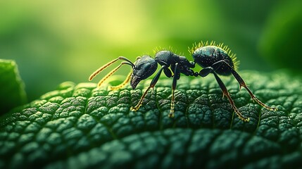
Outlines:
[[302, 54], [298, 51], [302, 39], [301, 5], [301, 1], [288, 1], [272, 11], [259, 44], [263, 58], [296, 74], [302, 73]]

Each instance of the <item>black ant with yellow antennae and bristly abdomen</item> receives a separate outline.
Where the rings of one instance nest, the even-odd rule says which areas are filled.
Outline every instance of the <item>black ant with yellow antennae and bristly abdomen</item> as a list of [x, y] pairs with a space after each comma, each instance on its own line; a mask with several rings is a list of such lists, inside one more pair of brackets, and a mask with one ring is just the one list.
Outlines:
[[[248, 94], [251, 96], [253, 100], [255, 100], [258, 104], [265, 107], [270, 111], [277, 111], [277, 108], [272, 108], [263, 104], [256, 96], [248, 89], [244, 80], [240, 77], [237, 73], [237, 58], [235, 54], [232, 54], [231, 50], [224, 46], [223, 44], [215, 44], [215, 42], [200, 42], [199, 44], [194, 44], [194, 46], [189, 49], [190, 54], [193, 56], [194, 61], [188, 61], [186, 57], [180, 56], [177, 54], [172, 53], [169, 50], [162, 50], [158, 51], [154, 58], [151, 58], [149, 55], [144, 55], [138, 57], [137, 60], [132, 63], [127, 58], [120, 56], [115, 58], [113, 61], [103, 65], [101, 68], [96, 70], [92, 75], [90, 75], [89, 80], [92, 80], [96, 75], [98, 75], [102, 70], [107, 68], [109, 65], [115, 63], [118, 60], [122, 60], [122, 63], [118, 65], [118, 67], [111, 70], [103, 79], [99, 81], [98, 87], [116, 70], [120, 68], [122, 65], [130, 65], [132, 67], [132, 71], [127, 75], [127, 78], [122, 84], [111, 87], [111, 89], [120, 89], [123, 87], [127, 82], [130, 80], [130, 84], [132, 89], [137, 87], [137, 84], [141, 82], [141, 80], [145, 80], [146, 78], [150, 77], [155, 73], [158, 68], [158, 64], [161, 65], [161, 68], [158, 70], [158, 73], [153, 77], [149, 87], [146, 89], [144, 94], [141, 96], [138, 104], [131, 108], [132, 111], [139, 110], [139, 107], [142, 104], [144, 97], [146, 96], [149, 89], [153, 88], [158, 82], [161, 73], [163, 72], [167, 77], [173, 77], [172, 80], [172, 99], [171, 99], [171, 107], [169, 117], [174, 117], [174, 109], [175, 109], [175, 89], [177, 85], [177, 80], [180, 79], [180, 74], [184, 74], [187, 76], [194, 76], [194, 77], [206, 77], [210, 73], [212, 73], [215, 77], [215, 80], [218, 82], [220, 89], [222, 90], [222, 97], [227, 96], [229, 100], [229, 104], [231, 104], [234, 112], [238, 115], [239, 119], [243, 120], [244, 122], [248, 122], [249, 118], [245, 118], [244, 115], [240, 113], [237, 107], [234, 104], [231, 96], [229, 96], [229, 92], [227, 91], [227, 87], [222, 82], [218, 75], [233, 75], [237, 82], [239, 82], [239, 89], [244, 87]], [[195, 68], [195, 64], [200, 65], [203, 69], [200, 72], [194, 72], [191, 68]]]

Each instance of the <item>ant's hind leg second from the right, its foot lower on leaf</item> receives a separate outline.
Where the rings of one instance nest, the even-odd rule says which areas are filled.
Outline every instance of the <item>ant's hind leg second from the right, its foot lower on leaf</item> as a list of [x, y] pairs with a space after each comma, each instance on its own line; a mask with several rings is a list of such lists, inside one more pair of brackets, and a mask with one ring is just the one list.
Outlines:
[[249, 118], [245, 118], [240, 111], [237, 109], [237, 107], [234, 104], [233, 99], [231, 98], [231, 96], [229, 96], [229, 92], [227, 91], [227, 87], [225, 87], [225, 84], [223, 84], [222, 80], [220, 79], [220, 77], [218, 77], [218, 75], [213, 71], [213, 74], [215, 76], [216, 81], [218, 82], [220, 89], [222, 90], [222, 94], [223, 96], [227, 96], [227, 99], [229, 99], [229, 104], [231, 104], [232, 108], [234, 109], [235, 113], [238, 115], [238, 117], [240, 118], [240, 120], [243, 120], [244, 122], [248, 122], [250, 119]]

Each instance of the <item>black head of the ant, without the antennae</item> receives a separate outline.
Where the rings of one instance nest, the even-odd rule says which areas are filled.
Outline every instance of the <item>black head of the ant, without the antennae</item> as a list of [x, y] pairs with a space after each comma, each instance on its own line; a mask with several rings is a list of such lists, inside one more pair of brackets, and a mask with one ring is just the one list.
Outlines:
[[145, 55], [138, 58], [137, 61], [134, 62], [133, 73], [130, 80], [132, 89], [135, 89], [141, 80], [145, 80], [153, 75], [156, 69], [157, 62], [154, 58], [151, 58], [151, 56]]

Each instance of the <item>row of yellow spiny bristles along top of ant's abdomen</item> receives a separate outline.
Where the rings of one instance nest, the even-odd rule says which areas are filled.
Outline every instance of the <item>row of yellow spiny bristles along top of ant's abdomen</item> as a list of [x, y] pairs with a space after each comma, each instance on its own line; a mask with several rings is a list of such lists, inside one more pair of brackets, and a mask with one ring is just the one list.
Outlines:
[[208, 42], [208, 41], [202, 42], [202, 41], [201, 41], [201, 42], [199, 42], [199, 43], [197, 44], [197, 43], [195, 42], [191, 48], [189, 47], [189, 53], [192, 55], [196, 49], [199, 49], [199, 48], [201, 48], [201, 47], [203, 47], [203, 46], [217, 46], [217, 47], [219, 47], [220, 49], [224, 50], [224, 51], [227, 53], [227, 55], [229, 55], [229, 57], [232, 58], [232, 61], [233, 61], [233, 63], [234, 63], [234, 69], [235, 69], [235, 70], [238, 69], [239, 61], [237, 60], [236, 54], [233, 54], [233, 53], [232, 53], [232, 50], [229, 49], [229, 47], [228, 47], [227, 45], [223, 44], [223, 43], [216, 44], [215, 41], [211, 41], [211, 42]]

